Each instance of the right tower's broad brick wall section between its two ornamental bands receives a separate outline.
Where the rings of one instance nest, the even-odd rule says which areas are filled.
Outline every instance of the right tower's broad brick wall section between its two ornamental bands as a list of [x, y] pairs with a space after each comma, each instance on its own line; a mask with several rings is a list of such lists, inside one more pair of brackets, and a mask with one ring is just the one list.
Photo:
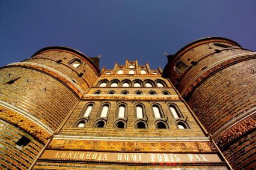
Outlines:
[[[255, 107], [256, 59], [239, 62], [216, 73], [198, 87], [187, 101], [208, 132], [215, 133], [229, 121]], [[234, 72], [236, 70], [236, 72]]]

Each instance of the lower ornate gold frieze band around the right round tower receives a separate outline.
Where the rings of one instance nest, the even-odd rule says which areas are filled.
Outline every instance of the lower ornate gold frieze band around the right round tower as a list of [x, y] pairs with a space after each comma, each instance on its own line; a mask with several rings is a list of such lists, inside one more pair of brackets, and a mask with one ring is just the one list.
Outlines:
[[256, 128], [256, 115], [252, 115], [246, 120], [240, 122], [236, 126], [231, 127], [226, 132], [222, 133], [219, 138], [215, 139], [216, 144], [218, 144], [219, 148], [224, 149], [231, 144], [235, 139], [243, 136], [249, 131]]

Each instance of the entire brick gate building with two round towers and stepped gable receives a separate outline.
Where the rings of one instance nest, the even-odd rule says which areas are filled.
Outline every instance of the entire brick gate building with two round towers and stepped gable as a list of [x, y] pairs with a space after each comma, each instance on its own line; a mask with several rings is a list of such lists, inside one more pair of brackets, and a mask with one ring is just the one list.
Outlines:
[[[221, 45], [207, 46], [201, 43], [204, 41], [208, 44], [218, 43], [222, 46], [235, 47], [225, 48], [230, 50], [226, 54], [222, 49], [218, 49]], [[191, 46], [194, 49], [189, 49]], [[210, 72], [209, 70], [219, 64], [219, 58], [213, 59], [208, 51], [210, 47], [215, 46], [218, 48], [213, 49], [214, 55], [220, 58], [224, 59], [232, 54], [242, 59], [235, 59], [235, 64], [230, 64], [233, 61], [227, 62], [225, 66], [223, 63], [226, 62], [220, 62], [223, 68], [217, 68], [222, 69], [222, 73], [214, 69]], [[186, 51], [192, 50], [197, 55], [194, 53], [186, 55], [186, 59], [181, 57], [185, 56], [183, 54]], [[222, 53], [226, 55], [219, 56]], [[200, 66], [198, 68], [201, 70], [198, 70], [197, 66], [208, 55], [213, 61], [202, 62], [204, 67]], [[210, 100], [207, 99], [207, 91], [216, 88], [214, 85], [209, 86], [209, 83], [213, 83], [215, 79], [233, 88], [233, 84], [231, 85], [233, 79], [228, 85], [227, 80], [222, 80], [218, 76], [227, 74], [226, 77], [231, 79], [232, 74], [228, 71], [234, 70], [234, 65], [239, 65], [240, 62], [246, 62], [246, 69], [249, 70], [243, 72], [248, 74], [246, 76], [248, 79], [245, 81], [251, 86], [255, 85], [252, 81], [255, 77], [253, 65], [255, 62], [249, 61], [254, 57], [254, 52], [242, 49], [234, 41], [207, 38], [189, 44], [175, 56], [168, 56], [169, 62], [162, 74], [161, 68], [151, 69], [147, 63], [139, 65], [137, 60], [126, 60], [124, 65], [115, 63], [112, 70], [102, 68], [100, 71], [99, 58], [89, 58], [67, 47], [41, 49], [25, 61], [1, 68], [0, 167], [4, 169], [231, 169], [225, 157], [237, 169], [243, 168], [248, 163], [251, 163], [252, 167], [254, 156], [250, 153], [255, 148], [254, 145], [249, 144], [254, 142], [252, 129], [255, 125], [250, 120], [255, 118], [253, 110], [251, 111], [253, 104], [255, 105], [253, 101], [255, 91], [252, 93], [255, 88], [250, 91], [248, 87], [243, 87], [244, 91], [241, 90], [244, 96], [248, 94], [251, 99], [240, 101], [241, 105], [237, 108], [241, 114], [236, 114], [239, 117], [234, 119], [236, 122], [231, 118], [230, 112], [224, 112], [225, 109], [218, 112], [225, 117], [229, 115], [228, 118], [224, 119], [217, 113], [212, 114], [209, 110], [214, 110], [215, 105], [212, 106], [206, 101]], [[232, 58], [227, 57], [227, 59]], [[217, 61], [218, 63], [215, 64]], [[174, 67], [177, 62], [181, 65]], [[193, 68], [194, 73], [190, 71]], [[238, 68], [235, 68], [237, 74], [240, 73]], [[205, 85], [198, 81], [195, 81], [198, 84], [190, 82], [204, 72], [209, 72], [209, 77], [213, 80], [208, 80], [210, 78], [206, 76]], [[190, 74], [184, 76], [183, 73]], [[214, 73], [218, 76], [213, 77]], [[234, 79], [237, 74], [233, 75]], [[187, 76], [190, 78], [188, 79]], [[216, 82], [216, 86], [219, 83]], [[194, 87], [190, 88], [189, 85]], [[206, 87], [201, 87], [202, 85]], [[187, 89], [190, 90], [188, 93]], [[222, 88], [222, 91], [230, 93], [230, 90], [225, 88]], [[232, 94], [243, 97], [239, 93]], [[193, 95], [195, 97], [191, 97]], [[187, 100], [197, 116], [181, 96]], [[198, 98], [201, 99], [201, 103], [198, 102]], [[220, 97], [214, 99], [216, 100], [224, 99]], [[246, 101], [251, 102], [245, 105]], [[232, 104], [229, 100], [227, 103], [227, 105]], [[201, 114], [203, 112], [210, 115], [206, 114], [203, 117]], [[210, 125], [209, 120], [212, 121]], [[236, 126], [240, 127], [240, 123], [249, 127], [243, 127], [243, 133], [237, 132]], [[230, 124], [232, 126], [228, 126]], [[234, 133], [239, 133], [240, 136], [235, 134], [230, 141], [226, 136], [233, 137], [233, 133], [229, 135], [233, 128], [236, 130]], [[219, 129], [221, 131], [218, 131]], [[245, 138], [246, 135], [248, 137]], [[225, 157], [213, 139], [222, 149]], [[237, 153], [239, 149], [243, 150], [244, 154]], [[241, 161], [243, 165], [236, 165], [234, 161], [240, 158], [233, 154], [244, 156], [246, 158], [244, 162], [247, 164]]]

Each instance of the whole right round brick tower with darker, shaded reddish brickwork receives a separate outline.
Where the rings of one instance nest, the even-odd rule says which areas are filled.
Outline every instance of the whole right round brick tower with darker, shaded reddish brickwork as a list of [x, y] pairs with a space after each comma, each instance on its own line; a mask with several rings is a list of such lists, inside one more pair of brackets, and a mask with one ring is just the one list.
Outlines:
[[256, 52], [221, 37], [168, 56], [168, 77], [234, 169], [255, 164]]

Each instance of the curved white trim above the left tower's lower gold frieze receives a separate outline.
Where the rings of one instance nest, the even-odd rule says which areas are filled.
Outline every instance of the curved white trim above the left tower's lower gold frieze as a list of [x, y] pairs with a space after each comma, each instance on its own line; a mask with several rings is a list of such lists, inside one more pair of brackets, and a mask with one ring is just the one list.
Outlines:
[[34, 122], [35, 124], [37, 124], [38, 126], [43, 128], [44, 130], [46, 130], [46, 132], [48, 132], [49, 134], [53, 133], [53, 130], [50, 129], [50, 127], [46, 126], [46, 124], [43, 124], [40, 120], [38, 120], [37, 118], [33, 117], [28, 112], [22, 111], [22, 109], [19, 109], [16, 106], [10, 105], [9, 103], [6, 103], [6, 102], [4, 102], [2, 100], [0, 100], [0, 105], [4, 106], [5, 108], [11, 109], [14, 112], [17, 112], [20, 115], [23, 115], [23, 117], [28, 118], [29, 120], [31, 120], [32, 122]]

